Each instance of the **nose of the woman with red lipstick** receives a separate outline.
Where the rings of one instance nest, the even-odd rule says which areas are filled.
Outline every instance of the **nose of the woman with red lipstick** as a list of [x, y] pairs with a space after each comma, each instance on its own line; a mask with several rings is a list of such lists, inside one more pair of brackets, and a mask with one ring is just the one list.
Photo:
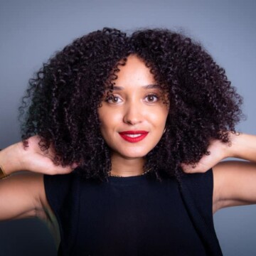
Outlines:
[[139, 124], [142, 122], [142, 118], [142, 106], [135, 102], [130, 102], [126, 105], [123, 117], [124, 123], [131, 125]]

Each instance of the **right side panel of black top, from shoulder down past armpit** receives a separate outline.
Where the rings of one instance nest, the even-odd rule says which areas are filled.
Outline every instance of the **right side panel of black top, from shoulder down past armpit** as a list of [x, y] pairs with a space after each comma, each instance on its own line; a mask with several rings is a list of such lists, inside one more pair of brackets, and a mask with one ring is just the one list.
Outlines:
[[207, 255], [223, 255], [213, 225], [213, 170], [204, 174], [184, 174], [179, 188]]

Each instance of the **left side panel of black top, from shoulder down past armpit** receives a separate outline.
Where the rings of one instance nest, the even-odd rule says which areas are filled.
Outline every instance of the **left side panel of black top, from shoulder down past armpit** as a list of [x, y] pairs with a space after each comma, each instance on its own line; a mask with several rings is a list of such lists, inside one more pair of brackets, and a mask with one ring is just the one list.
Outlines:
[[58, 255], [72, 255], [78, 227], [80, 182], [78, 175], [45, 175], [46, 198], [60, 228]]

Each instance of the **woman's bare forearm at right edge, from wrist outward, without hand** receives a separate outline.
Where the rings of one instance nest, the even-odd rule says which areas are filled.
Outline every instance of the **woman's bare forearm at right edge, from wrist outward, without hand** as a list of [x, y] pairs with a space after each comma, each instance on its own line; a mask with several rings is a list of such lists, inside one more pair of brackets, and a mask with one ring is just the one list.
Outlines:
[[227, 156], [256, 162], [256, 136], [250, 134], [230, 134], [231, 145]]

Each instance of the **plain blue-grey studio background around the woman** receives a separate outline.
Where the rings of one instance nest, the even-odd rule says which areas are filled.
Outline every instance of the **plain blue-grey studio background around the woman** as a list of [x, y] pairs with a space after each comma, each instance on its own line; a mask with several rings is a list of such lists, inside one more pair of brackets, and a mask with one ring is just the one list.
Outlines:
[[[85, 33], [110, 26], [165, 27], [200, 41], [225, 68], [244, 97], [247, 120], [238, 129], [256, 134], [256, 1], [0, 1], [0, 148], [20, 140], [17, 108], [28, 79]], [[1, 210], [1, 209], [0, 209]], [[224, 255], [256, 255], [256, 206], [220, 210], [215, 229]], [[56, 255], [39, 220], [0, 223], [0, 256]]]

